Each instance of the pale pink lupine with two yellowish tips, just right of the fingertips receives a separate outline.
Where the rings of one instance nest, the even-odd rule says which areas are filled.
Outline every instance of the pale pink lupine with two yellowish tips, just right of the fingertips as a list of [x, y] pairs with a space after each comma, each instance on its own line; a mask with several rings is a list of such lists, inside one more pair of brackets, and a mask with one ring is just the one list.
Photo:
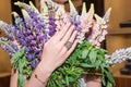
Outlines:
[[81, 15], [81, 24], [80, 24], [81, 30], [78, 33], [76, 36], [76, 39], [79, 40], [80, 44], [83, 42], [83, 40], [86, 37], [85, 34], [87, 34], [90, 32], [90, 28], [92, 27], [93, 15], [94, 15], [94, 5], [92, 4], [88, 13], [86, 13], [86, 5], [84, 3]]

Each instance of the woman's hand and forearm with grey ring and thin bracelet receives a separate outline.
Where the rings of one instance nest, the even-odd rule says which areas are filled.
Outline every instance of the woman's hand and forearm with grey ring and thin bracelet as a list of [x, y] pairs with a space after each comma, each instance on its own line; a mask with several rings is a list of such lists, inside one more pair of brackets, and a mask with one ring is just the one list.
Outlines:
[[74, 40], [76, 30], [67, 23], [44, 46], [41, 61], [37, 65], [26, 87], [46, 87], [51, 73], [60, 66], [74, 50], [78, 41]]

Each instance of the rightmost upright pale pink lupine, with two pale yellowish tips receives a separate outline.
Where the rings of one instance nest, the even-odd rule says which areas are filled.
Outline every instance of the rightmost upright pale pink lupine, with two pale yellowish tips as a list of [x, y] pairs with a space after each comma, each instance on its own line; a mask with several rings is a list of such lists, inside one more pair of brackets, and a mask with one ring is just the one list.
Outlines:
[[94, 23], [92, 34], [87, 37], [87, 40], [97, 48], [100, 47], [100, 42], [105, 39], [105, 35], [107, 35], [106, 28], [108, 27], [107, 22], [110, 11], [111, 9], [108, 9], [106, 15], [103, 18], [95, 14], [96, 23]]

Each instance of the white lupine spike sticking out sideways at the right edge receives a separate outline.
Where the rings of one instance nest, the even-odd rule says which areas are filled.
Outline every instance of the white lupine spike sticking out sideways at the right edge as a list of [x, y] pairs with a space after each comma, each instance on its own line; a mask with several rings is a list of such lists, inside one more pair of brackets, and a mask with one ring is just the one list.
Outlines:
[[121, 63], [128, 59], [131, 59], [131, 47], [127, 49], [116, 50], [111, 55], [105, 55], [106, 59], [110, 59], [107, 63], [115, 64]]

